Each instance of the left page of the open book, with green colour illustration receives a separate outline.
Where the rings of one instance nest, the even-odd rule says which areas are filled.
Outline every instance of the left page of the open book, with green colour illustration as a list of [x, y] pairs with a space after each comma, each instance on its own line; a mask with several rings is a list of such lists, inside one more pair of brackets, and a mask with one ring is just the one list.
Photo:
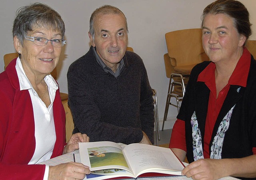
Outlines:
[[122, 147], [115, 142], [82, 142], [79, 149], [81, 162], [89, 166], [91, 172], [106, 170], [107, 173], [109, 169], [131, 171]]

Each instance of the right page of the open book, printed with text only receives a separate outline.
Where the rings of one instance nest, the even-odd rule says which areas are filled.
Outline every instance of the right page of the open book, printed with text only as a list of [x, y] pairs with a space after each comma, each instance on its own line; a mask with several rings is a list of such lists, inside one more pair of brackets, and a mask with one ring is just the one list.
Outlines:
[[181, 175], [184, 165], [169, 148], [147, 144], [129, 144], [124, 148], [136, 177], [145, 172]]

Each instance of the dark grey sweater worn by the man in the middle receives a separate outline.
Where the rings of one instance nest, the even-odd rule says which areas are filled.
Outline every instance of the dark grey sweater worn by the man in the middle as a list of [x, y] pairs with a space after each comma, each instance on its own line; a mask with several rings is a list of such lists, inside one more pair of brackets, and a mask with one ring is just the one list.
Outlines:
[[90, 141], [131, 144], [144, 131], [154, 143], [154, 106], [146, 68], [134, 52], [126, 52], [124, 68], [115, 78], [96, 62], [92, 47], [68, 69], [68, 104], [75, 122], [73, 133]]

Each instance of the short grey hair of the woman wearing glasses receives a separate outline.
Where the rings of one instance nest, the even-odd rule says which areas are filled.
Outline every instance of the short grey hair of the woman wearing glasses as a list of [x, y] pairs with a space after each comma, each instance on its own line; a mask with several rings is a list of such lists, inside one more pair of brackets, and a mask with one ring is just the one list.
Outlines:
[[35, 27], [58, 30], [62, 35], [62, 39], [64, 39], [65, 24], [60, 14], [46, 4], [34, 3], [19, 8], [16, 11], [16, 18], [13, 23], [12, 36], [17, 36], [23, 45], [27, 32], [32, 31]]

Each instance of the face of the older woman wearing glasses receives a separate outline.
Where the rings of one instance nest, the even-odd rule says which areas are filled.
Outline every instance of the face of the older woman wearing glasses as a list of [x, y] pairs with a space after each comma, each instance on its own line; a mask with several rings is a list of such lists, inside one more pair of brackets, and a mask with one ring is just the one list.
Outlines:
[[[28, 32], [27, 36], [42, 37], [48, 40], [62, 39], [59, 31], [53, 31], [48, 28], [35, 28]], [[62, 48], [52, 46], [51, 41], [45, 46], [38, 46], [34, 42], [24, 39], [23, 46], [17, 38], [14, 37], [14, 46], [21, 54], [21, 62], [27, 76], [45, 76], [50, 74], [57, 66]]]

